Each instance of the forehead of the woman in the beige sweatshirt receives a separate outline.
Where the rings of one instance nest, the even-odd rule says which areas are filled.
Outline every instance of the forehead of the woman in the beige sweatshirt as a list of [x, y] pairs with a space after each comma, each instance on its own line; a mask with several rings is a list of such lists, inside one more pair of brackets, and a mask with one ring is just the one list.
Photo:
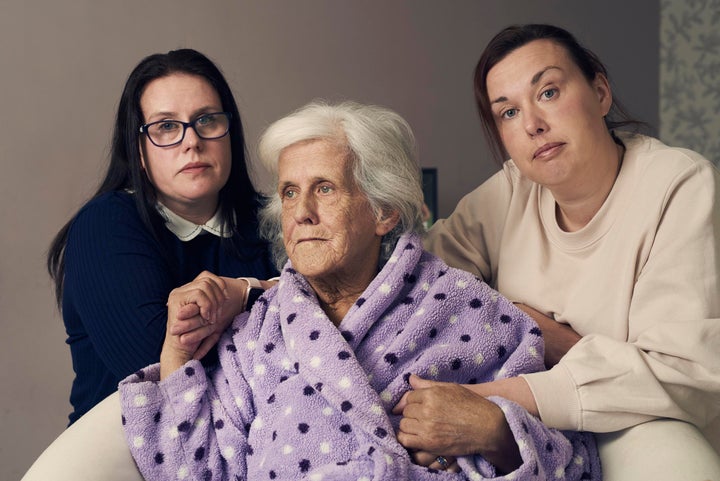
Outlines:
[[488, 97], [492, 101], [514, 85], [531, 85], [538, 74], [550, 67], [568, 74], [580, 72], [565, 47], [552, 40], [533, 40], [518, 47], [488, 72]]

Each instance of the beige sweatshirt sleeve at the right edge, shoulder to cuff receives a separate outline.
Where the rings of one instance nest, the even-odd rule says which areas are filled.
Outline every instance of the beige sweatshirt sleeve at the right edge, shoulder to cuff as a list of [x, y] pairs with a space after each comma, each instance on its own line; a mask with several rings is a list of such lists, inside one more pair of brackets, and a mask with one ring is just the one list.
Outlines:
[[542, 420], [608, 432], [720, 414], [720, 184], [708, 162], [673, 180], [639, 269], [627, 341], [588, 335], [550, 371], [525, 375]]

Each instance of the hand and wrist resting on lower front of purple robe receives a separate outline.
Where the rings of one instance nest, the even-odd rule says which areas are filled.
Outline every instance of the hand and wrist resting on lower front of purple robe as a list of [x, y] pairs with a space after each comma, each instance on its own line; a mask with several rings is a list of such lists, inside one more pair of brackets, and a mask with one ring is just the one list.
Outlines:
[[402, 413], [397, 438], [431, 456], [480, 454], [504, 472], [522, 462], [500, 407], [459, 384], [410, 376], [412, 391], [393, 409]]

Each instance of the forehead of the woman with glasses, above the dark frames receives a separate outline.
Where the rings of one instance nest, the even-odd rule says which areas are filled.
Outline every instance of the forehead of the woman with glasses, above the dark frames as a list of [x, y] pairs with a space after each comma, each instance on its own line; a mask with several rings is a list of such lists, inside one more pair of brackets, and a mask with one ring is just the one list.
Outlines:
[[140, 97], [140, 107], [146, 114], [204, 106], [221, 107], [220, 96], [205, 78], [186, 73], [156, 78], [147, 84]]

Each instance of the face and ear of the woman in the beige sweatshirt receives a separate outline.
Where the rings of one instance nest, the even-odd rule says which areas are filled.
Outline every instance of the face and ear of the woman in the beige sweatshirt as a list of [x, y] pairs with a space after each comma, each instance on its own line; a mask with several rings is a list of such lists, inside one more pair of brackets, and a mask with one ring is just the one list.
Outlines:
[[535, 40], [490, 69], [487, 90], [503, 145], [523, 175], [551, 189], [592, 175], [612, 104], [603, 75], [588, 82], [565, 48]]

